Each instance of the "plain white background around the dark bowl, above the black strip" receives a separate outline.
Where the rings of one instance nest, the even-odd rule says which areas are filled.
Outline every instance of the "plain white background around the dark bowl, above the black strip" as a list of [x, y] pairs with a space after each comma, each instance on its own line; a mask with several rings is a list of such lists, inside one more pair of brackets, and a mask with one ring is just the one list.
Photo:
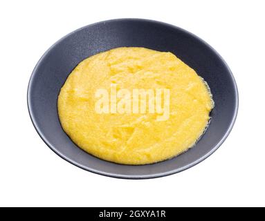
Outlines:
[[[264, 1], [1, 1], [0, 206], [265, 206]], [[239, 113], [226, 142], [197, 166], [152, 180], [83, 171], [55, 155], [30, 122], [28, 80], [55, 41], [106, 19], [172, 23], [230, 66]]]

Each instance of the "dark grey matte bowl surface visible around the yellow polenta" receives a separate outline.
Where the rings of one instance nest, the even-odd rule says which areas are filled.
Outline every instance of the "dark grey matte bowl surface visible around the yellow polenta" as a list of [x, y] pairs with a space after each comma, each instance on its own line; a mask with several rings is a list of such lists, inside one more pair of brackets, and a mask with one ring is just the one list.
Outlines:
[[[211, 88], [215, 107], [210, 126], [196, 146], [171, 160], [141, 166], [107, 162], [82, 151], [62, 130], [57, 97], [73, 68], [86, 57], [125, 46], [172, 52], [196, 70]], [[66, 35], [42, 56], [28, 85], [28, 110], [42, 140], [57, 155], [82, 169], [120, 178], [161, 177], [201, 162], [226, 139], [237, 108], [235, 79], [214, 49], [181, 28], [145, 19], [102, 21]]]

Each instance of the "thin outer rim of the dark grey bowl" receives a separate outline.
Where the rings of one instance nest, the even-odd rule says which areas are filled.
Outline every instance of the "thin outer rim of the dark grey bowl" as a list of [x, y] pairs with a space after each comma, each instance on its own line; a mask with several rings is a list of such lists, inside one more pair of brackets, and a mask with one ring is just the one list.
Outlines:
[[[157, 23], [157, 24], [162, 25], [162, 26], [167, 26], [167, 27], [170, 27], [170, 28], [175, 28], [175, 29], [181, 30], [181, 32], [185, 32], [186, 34], [191, 35], [192, 37], [194, 37], [195, 39], [197, 39], [201, 43], [205, 44], [205, 46], [210, 48], [210, 50], [212, 50], [212, 52], [214, 52], [214, 54], [217, 55], [217, 57], [219, 57], [219, 59], [222, 61], [223, 65], [226, 66], [226, 68], [228, 69], [228, 73], [230, 74], [230, 77], [232, 79], [232, 84], [233, 84], [233, 87], [234, 87], [234, 90], [235, 90], [235, 109], [234, 109], [234, 113], [232, 115], [232, 120], [230, 121], [230, 124], [229, 124], [228, 128], [226, 129], [226, 133], [223, 135], [223, 137], [221, 137], [221, 140], [219, 140], [219, 142], [215, 146], [213, 146], [211, 148], [211, 150], [208, 151], [208, 153], [206, 153], [202, 157], [198, 158], [196, 161], [190, 162], [186, 166], [182, 166], [182, 167], [180, 167], [178, 169], [173, 169], [171, 171], [166, 171], [166, 172], [162, 172], [162, 173], [154, 173], [154, 174], [149, 174], [149, 175], [122, 175], [122, 174], [118, 174], [118, 173], [109, 173], [109, 172], [105, 172], [105, 171], [91, 169], [91, 168], [89, 168], [87, 166], [84, 166], [84, 165], [76, 162], [75, 160], [72, 160], [69, 157], [66, 157], [60, 151], [57, 151], [57, 148], [55, 146], [53, 146], [53, 144], [51, 144], [48, 141], [48, 139], [42, 133], [42, 129], [39, 128], [39, 126], [37, 125], [37, 121], [35, 119], [35, 115], [34, 115], [34, 111], [33, 111], [33, 105], [31, 104], [31, 96], [33, 94], [32, 93], [33, 79], [37, 75], [37, 68], [42, 63], [44, 57], [46, 57], [48, 52], [53, 50], [53, 48], [57, 44], [59, 44], [61, 41], [64, 41], [64, 39], [66, 39], [67, 37], [73, 35], [75, 32], [79, 32], [80, 30], [83, 30], [83, 29], [88, 28], [90, 26], [96, 26], [96, 25], [98, 25], [100, 23], [104, 23], [105, 24], [105, 23], [110, 23], [110, 22], [113, 22], [113, 21], [144, 21], [144, 22], [150, 22], [150, 23]], [[87, 26], [83, 26], [82, 28], [77, 28], [73, 32], [70, 32], [67, 35], [65, 35], [64, 37], [62, 37], [61, 39], [57, 40], [50, 48], [48, 48], [48, 50], [46, 50], [46, 52], [44, 52], [44, 54], [39, 59], [39, 61], [37, 61], [37, 64], [36, 64], [35, 68], [33, 69], [33, 73], [30, 76], [30, 80], [29, 80], [29, 83], [28, 83], [28, 90], [27, 90], [27, 105], [28, 105], [28, 112], [29, 112], [29, 115], [30, 115], [31, 122], [33, 123], [33, 126], [35, 127], [35, 130], [37, 131], [39, 137], [42, 138], [44, 143], [49, 148], [51, 148], [51, 150], [53, 152], [55, 152], [57, 155], [62, 157], [62, 159], [66, 160], [67, 162], [69, 162], [69, 163], [71, 163], [71, 164], [73, 164], [75, 166], [78, 166], [80, 169], [84, 169], [85, 171], [89, 171], [91, 173], [96, 173], [96, 174], [104, 175], [104, 176], [107, 176], [107, 177], [139, 180], [139, 179], [150, 179], [150, 178], [164, 177], [164, 176], [167, 176], [167, 175], [172, 175], [174, 173], [179, 173], [181, 171], [185, 171], [186, 169], [189, 169], [192, 166], [195, 166], [196, 164], [199, 164], [200, 162], [202, 162], [203, 160], [208, 158], [210, 155], [212, 155], [212, 153], [214, 153], [214, 151], [216, 151], [219, 148], [219, 146], [221, 146], [221, 144], [223, 144], [223, 142], [226, 140], [226, 138], [228, 137], [228, 135], [232, 131], [232, 127], [235, 125], [235, 120], [237, 118], [237, 113], [238, 113], [238, 109], [239, 109], [239, 93], [238, 93], [238, 88], [237, 88], [237, 83], [235, 81], [235, 77], [232, 75], [232, 71], [230, 70], [228, 64], [226, 64], [226, 61], [223, 59], [223, 57], [221, 57], [221, 55], [219, 55], [217, 50], [212, 48], [212, 46], [210, 46], [210, 44], [205, 42], [200, 37], [197, 37], [197, 35], [194, 35], [192, 32], [189, 32], [188, 30], [185, 30], [183, 28], [179, 28], [178, 26], [174, 26], [174, 25], [172, 25], [170, 23], [165, 23], [165, 22], [162, 22], [162, 21], [156, 21], [156, 20], [152, 20], [152, 19], [139, 19], [139, 18], [121, 18], [121, 19], [110, 19], [110, 20], [99, 21], [99, 22], [96, 22], [96, 23], [91, 23], [91, 24], [89, 24]], [[102, 160], [102, 159], [100, 159], [100, 160]], [[158, 164], [159, 164], [159, 162], [158, 162]], [[122, 164], [120, 164], [120, 166], [122, 166]], [[135, 165], [130, 165], [130, 166], [135, 166]]]

